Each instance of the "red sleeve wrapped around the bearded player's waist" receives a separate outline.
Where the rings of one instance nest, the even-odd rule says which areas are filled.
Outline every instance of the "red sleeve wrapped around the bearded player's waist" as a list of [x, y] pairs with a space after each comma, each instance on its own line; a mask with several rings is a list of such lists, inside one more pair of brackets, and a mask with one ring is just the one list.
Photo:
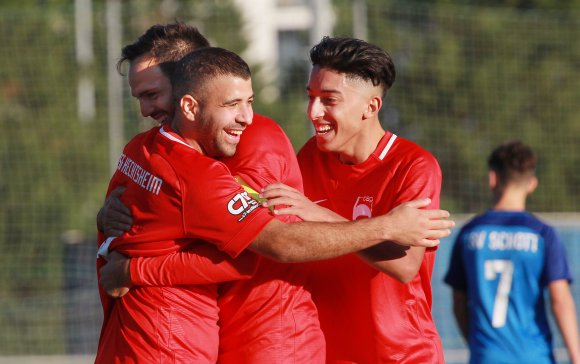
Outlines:
[[158, 257], [131, 259], [131, 283], [135, 286], [175, 286], [212, 284], [250, 278], [258, 256], [246, 251], [236, 259], [210, 244]]

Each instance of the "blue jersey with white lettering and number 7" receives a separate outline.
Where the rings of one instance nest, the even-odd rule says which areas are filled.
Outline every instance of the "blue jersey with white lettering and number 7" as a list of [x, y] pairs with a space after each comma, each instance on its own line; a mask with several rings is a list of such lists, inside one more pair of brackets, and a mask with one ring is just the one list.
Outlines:
[[467, 293], [470, 363], [553, 363], [544, 304], [571, 281], [555, 230], [528, 212], [488, 211], [459, 232], [445, 282]]

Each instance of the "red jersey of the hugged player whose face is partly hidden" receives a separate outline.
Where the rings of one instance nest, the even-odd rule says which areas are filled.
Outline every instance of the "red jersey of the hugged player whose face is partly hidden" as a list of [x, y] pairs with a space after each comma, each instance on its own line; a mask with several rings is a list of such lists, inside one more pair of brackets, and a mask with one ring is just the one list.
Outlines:
[[[288, 137], [264, 116], [254, 115], [235, 156], [223, 162], [257, 191], [274, 182], [302, 191], [302, 176]], [[283, 219], [292, 221], [293, 217]], [[196, 265], [199, 257], [175, 256], [182, 257], [132, 261], [132, 276], [134, 266], [147, 274], [146, 280], [139, 273], [133, 279], [148, 285], [196, 283], [201, 274]], [[316, 306], [304, 287], [308, 277], [307, 265], [261, 258], [252, 279], [221, 284], [219, 362], [324, 363], [325, 343]]]

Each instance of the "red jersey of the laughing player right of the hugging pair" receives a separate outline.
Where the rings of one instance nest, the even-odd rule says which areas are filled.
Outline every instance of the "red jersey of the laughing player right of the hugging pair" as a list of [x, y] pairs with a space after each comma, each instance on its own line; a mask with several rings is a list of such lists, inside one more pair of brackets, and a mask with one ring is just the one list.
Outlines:
[[[373, 154], [342, 164], [310, 139], [298, 154], [306, 196], [349, 220], [385, 214], [416, 198], [439, 207], [441, 171], [417, 144], [387, 132]], [[312, 296], [327, 341], [327, 362], [443, 363], [431, 317], [435, 250], [403, 284], [355, 254], [312, 263]]]

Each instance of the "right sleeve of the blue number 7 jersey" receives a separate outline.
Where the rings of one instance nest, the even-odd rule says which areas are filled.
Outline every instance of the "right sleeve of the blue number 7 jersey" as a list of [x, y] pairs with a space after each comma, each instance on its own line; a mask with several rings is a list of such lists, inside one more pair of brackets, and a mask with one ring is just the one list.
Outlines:
[[546, 265], [543, 274], [545, 284], [560, 279], [566, 279], [568, 282], [572, 282], [572, 274], [560, 237], [554, 228], [550, 226], [546, 226], [543, 235], [546, 249]]

